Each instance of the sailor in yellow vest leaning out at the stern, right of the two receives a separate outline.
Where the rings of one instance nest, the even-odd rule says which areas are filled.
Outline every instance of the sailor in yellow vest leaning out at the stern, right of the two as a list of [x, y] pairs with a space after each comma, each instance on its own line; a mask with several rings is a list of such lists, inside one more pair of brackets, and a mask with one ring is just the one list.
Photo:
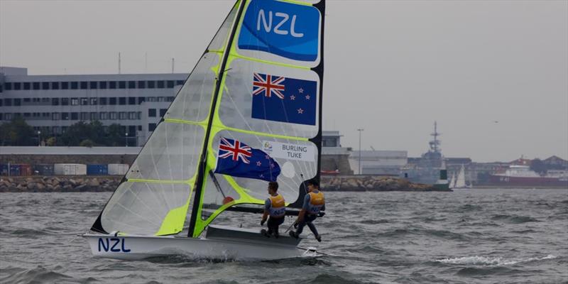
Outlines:
[[307, 182], [307, 191], [308, 193], [304, 197], [302, 210], [300, 210], [300, 214], [297, 215], [296, 222], [294, 222], [294, 227], [297, 226], [297, 231], [290, 231], [290, 236], [297, 239], [298, 236], [302, 234], [304, 226], [307, 225], [312, 233], [314, 233], [315, 239], [322, 241], [322, 237], [320, 234], [317, 234], [317, 229], [315, 229], [312, 222], [317, 218], [317, 214], [319, 214], [320, 211], [325, 210], [324, 193], [320, 191], [320, 185], [318, 185], [315, 180]]

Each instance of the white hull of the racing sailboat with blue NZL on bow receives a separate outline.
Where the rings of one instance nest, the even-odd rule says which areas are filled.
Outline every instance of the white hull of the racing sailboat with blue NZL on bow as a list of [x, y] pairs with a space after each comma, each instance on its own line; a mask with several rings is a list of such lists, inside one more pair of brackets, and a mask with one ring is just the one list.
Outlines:
[[[140, 260], [156, 256], [187, 256], [195, 259], [216, 260], [271, 260], [306, 256], [296, 247], [298, 241], [289, 236], [267, 238], [258, 231], [215, 226], [237, 234], [199, 239], [185, 236], [114, 236], [111, 234], [84, 234], [94, 256], [124, 260]], [[209, 232], [208, 232], [209, 233]], [[243, 234], [244, 233], [244, 234]], [[238, 236], [241, 234], [241, 236]], [[237, 236], [235, 236], [237, 235]], [[249, 239], [243, 236], [253, 236]], [[316, 256], [314, 251], [308, 256]]]

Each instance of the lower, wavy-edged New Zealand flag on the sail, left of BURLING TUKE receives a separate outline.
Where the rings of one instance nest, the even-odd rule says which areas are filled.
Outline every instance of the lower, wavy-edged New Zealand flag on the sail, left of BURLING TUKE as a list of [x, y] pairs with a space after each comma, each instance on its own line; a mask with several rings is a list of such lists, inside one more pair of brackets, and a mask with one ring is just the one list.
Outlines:
[[261, 150], [251, 148], [241, 141], [222, 137], [219, 141], [215, 173], [275, 182], [280, 175], [280, 165]]

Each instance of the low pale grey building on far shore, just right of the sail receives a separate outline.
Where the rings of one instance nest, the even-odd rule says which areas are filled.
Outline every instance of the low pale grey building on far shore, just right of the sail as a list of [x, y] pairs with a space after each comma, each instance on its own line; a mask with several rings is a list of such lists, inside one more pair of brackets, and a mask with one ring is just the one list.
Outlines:
[[352, 151], [349, 163], [356, 174], [400, 175], [400, 169], [408, 163], [407, 151], [361, 151], [361, 173], [359, 173], [359, 151]]

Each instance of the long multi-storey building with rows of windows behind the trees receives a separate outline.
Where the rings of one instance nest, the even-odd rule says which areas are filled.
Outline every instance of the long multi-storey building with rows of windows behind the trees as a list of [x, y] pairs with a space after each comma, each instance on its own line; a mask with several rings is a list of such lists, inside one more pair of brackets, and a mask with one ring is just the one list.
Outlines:
[[42, 136], [58, 136], [78, 121], [120, 124], [125, 144], [142, 146], [187, 74], [28, 75], [0, 67], [0, 124], [16, 116]]

